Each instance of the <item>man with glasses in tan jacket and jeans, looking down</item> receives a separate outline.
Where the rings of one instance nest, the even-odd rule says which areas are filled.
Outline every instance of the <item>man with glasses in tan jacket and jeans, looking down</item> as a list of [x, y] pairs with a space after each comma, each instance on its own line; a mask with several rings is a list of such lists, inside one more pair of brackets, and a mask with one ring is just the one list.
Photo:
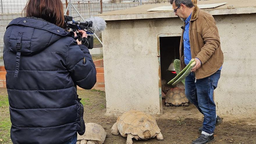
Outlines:
[[196, 64], [185, 81], [186, 97], [204, 115], [202, 134], [192, 143], [205, 144], [214, 139], [214, 129], [222, 119], [216, 115], [213, 91], [217, 88], [223, 65], [223, 53], [215, 20], [191, 0], [171, 0], [174, 13], [184, 21], [180, 42], [180, 66], [191, 58]]

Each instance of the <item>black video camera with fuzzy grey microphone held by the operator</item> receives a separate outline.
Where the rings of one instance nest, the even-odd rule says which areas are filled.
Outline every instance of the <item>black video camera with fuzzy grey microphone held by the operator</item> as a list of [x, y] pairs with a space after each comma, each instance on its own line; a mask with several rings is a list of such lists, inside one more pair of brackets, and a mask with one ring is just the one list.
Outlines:
[[[64, 15], [66, 29], [75, 32], [77, 30], [84, 30], [87, 34], [93, 34], [94, 30], [99, 32], [106, 28], [106, 22], [99, 17], [91, 17], [87, 19], [86, 22], [74, 21], [73, 17]], [[88, 35], [87, 38], [82, 38], [81, 33], [77, 33], [77, 36], [74, 37], [75, 40], [82, 41], [82, 45], [88, 47], [88, 49], [93, 48], [93, 36]]]

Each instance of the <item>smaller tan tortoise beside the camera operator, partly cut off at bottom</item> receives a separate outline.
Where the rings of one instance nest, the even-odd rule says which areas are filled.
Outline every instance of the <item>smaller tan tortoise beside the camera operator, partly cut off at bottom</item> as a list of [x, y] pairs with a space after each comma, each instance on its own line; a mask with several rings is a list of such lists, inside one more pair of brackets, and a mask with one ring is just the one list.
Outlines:
[[77, 144], [102, 144], [106, 138], [106, 132], [101, 125], [86, 123], [85, 133], [77, 135]]

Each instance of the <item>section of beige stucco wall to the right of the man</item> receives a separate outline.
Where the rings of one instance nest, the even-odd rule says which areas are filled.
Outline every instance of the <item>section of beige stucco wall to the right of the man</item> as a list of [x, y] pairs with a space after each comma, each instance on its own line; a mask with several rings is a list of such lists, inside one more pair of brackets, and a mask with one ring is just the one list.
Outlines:
[[224, 53], [217, 113], [251, 117], [256, 114], [256, 14], [214, 18]]

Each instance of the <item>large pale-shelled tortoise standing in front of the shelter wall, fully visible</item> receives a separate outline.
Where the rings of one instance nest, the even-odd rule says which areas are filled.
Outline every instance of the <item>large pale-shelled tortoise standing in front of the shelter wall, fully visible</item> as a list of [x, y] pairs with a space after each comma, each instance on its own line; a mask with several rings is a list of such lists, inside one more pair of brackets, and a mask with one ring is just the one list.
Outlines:
[[119, 132], [127, 137], [126, 144], [132, 144], [132, 138], [147, 140], [156, 136], [157, 140], [163, 140], [156, 120], [151, 115], [136, 110], [127, 111], [118, 116], [111, 128], [111, 134], [118, 135]]

